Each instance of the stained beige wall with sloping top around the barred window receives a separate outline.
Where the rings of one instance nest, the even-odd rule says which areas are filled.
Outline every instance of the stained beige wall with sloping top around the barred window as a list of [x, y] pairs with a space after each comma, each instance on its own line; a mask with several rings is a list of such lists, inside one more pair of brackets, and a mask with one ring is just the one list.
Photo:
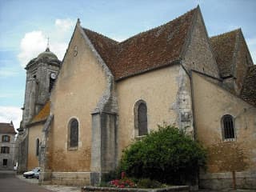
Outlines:
[[[229, 188], [234, 171], [237, 187], [256, 189], [256, 108], [200, 74], [193, 73], [192, 81], [197, 138], [209, 153], [207, 174], [201, 174], [200, 185]], [[233, 141], [222, 139], [225, 114], [234, 117]]]

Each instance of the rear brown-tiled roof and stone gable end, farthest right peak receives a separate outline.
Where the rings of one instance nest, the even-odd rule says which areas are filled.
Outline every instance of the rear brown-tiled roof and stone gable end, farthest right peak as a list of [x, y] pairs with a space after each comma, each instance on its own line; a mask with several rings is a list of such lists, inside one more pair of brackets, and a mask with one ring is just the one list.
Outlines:
[[246, 71], [253, 66], [242, 30], [233, 30], [210, 38], [222, 78], [234, 78], [232, 90], [240, 94]]

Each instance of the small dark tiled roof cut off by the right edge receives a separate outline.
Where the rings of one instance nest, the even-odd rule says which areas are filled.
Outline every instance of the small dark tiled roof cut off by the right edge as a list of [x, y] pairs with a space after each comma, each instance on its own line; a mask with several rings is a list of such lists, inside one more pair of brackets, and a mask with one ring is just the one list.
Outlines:
[[241, 93], [242, 99], [256, 106], [256, 66], [250, 66]]

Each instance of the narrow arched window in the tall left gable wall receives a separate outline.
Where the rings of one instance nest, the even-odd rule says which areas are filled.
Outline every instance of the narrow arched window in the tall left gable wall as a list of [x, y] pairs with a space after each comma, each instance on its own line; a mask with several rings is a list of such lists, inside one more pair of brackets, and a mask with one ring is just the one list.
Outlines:
[[70, 134], [70, 148], [78, 146], [78, 120], [72, 118], [70, 120], [70, 127], [69, 127], [69, 134]]

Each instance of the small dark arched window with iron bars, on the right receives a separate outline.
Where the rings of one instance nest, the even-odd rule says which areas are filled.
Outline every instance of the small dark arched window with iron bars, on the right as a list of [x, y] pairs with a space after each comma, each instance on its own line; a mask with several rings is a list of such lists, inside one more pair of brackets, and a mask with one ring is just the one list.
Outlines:
[[222, 117], [222, 135], [224, 139], [234, 138], [234, 121], [230, 114]]

